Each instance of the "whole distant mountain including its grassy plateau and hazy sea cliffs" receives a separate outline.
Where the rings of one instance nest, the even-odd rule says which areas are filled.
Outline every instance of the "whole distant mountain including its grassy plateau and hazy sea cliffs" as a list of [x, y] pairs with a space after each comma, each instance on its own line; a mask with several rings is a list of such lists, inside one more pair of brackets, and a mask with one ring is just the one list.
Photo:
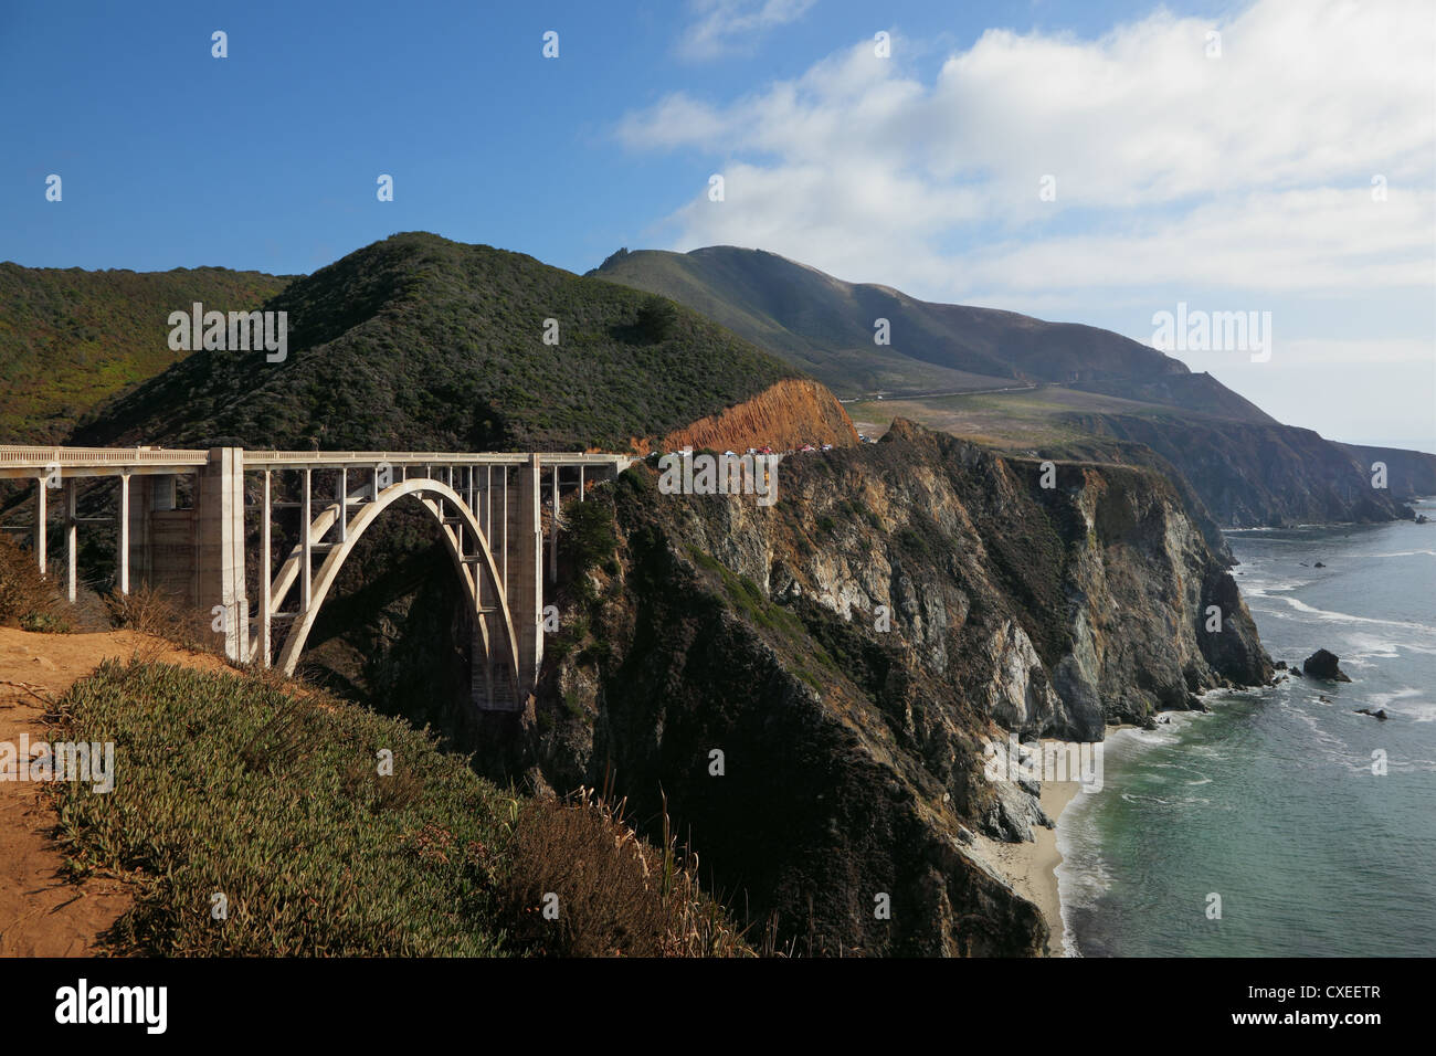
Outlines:
[[[1094, 326], [935, 305], [732, 246], [620, 250], [590, 274], [673, 297], [836, 392], [869, 397], [849, 404], [860, 427], [902, 415], [1010, 454], [1166, 466], [1222, 526], [1390, 520], [1436, 490], [1436, 455], [1282, 425], [1211, 375]], [[890, 345], [875, 343], [877, 319]], [[1384, 490], [1370, 473], [1383, 455]]]

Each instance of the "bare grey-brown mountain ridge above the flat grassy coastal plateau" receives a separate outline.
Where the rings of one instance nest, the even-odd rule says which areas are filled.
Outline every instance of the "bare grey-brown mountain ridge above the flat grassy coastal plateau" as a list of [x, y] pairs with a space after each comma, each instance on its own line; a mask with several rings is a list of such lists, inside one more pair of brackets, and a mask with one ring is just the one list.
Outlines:
[[[1206, 374], [1119, 333], [1017, 312], [938, 305], [847, 283], [763, 250], [620, 251], [589, 274], [662, 293], [813, 374], [840, 397], [1034, 382], [1275, 421]], [[889, 323], [887, 345], [875, 341]]]

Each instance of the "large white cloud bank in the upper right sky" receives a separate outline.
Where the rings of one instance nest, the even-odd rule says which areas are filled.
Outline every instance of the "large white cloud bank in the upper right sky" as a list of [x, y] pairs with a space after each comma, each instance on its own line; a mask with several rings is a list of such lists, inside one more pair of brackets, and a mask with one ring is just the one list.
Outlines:
[[[1427, 0], [1259, 0], [1221, 23], [1159, 10], [1097, 40], [991, 30], [926, 82], [903, 43], [628, 115], [630, 148], [694, 151], [725, 175], [725, 201], [698, 181], [666, 218], [671, 244], [761, 246], [968, 303], [1436, 280]], [[1044, 174], [1055, 201], [1038, 197]]]

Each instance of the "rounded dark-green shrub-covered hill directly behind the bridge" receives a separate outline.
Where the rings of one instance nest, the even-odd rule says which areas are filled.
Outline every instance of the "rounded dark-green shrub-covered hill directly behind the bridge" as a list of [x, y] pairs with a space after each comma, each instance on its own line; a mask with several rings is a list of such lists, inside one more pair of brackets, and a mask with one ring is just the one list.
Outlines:
[[426, 233], [356, 250], [264, 309], [287, 312], [284, 362], [195, 352], [75, 441], [628, 450], [798, 376], [688, 309]]

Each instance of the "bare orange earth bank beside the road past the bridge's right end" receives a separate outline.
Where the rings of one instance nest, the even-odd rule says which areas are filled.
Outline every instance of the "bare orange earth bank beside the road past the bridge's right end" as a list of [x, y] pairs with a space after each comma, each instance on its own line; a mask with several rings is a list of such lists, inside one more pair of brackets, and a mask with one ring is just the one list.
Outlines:
[[[852, 447], [856, 443], [857, 430], [837, 397], [816, 381], [785, 379], [719, 414], [673, 430], [659, 441], [658, 450], [747, 451], [770, 445], [774, 451], [794, 451], [804, 444]], [[653, 450], [639, 440], [633, 441], [633, 448], [639, 454]]]

